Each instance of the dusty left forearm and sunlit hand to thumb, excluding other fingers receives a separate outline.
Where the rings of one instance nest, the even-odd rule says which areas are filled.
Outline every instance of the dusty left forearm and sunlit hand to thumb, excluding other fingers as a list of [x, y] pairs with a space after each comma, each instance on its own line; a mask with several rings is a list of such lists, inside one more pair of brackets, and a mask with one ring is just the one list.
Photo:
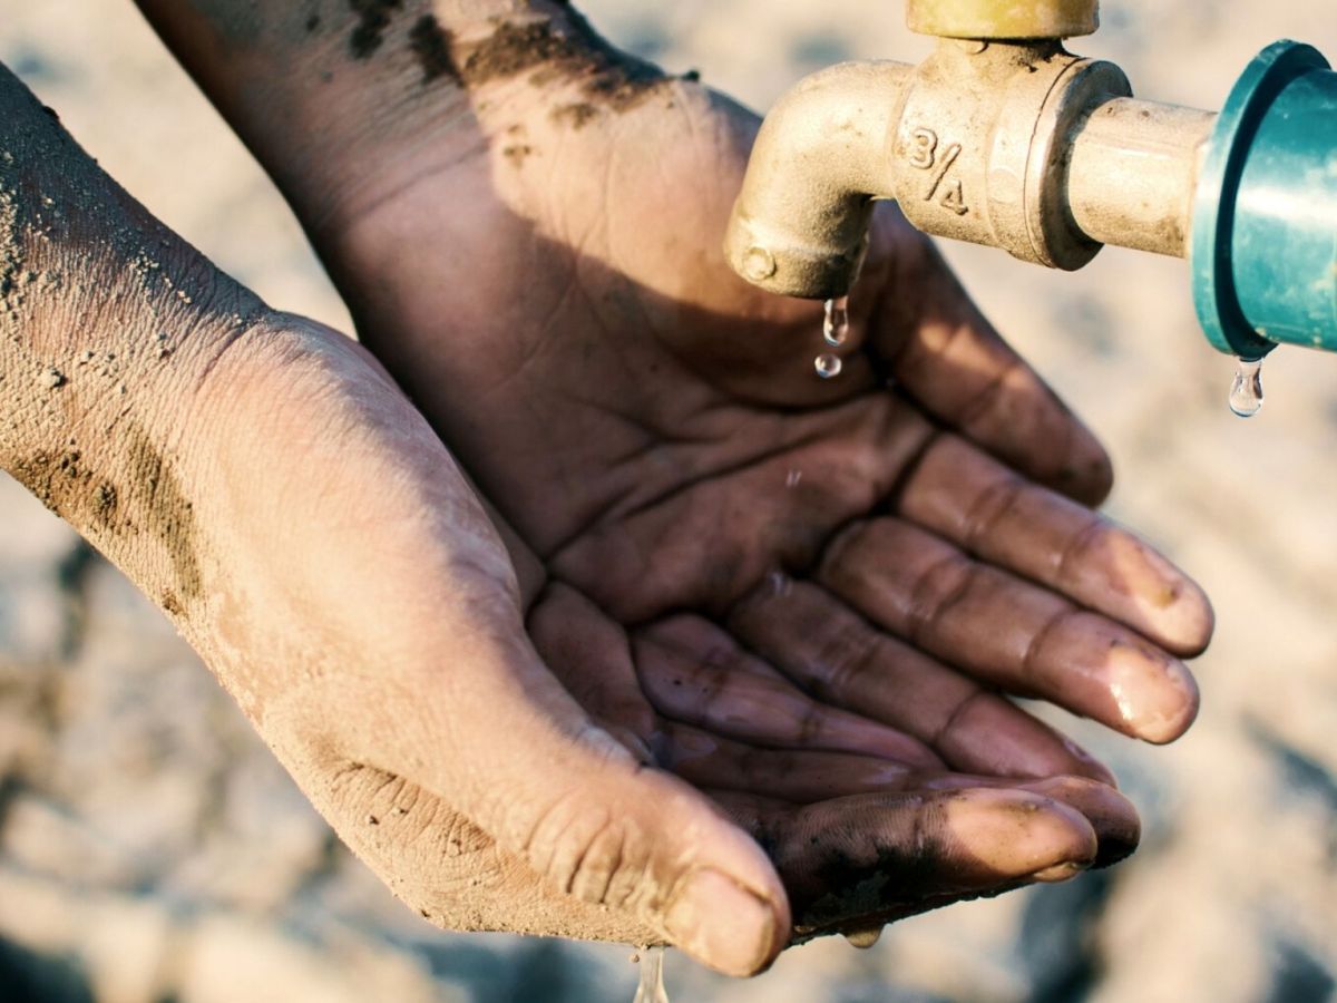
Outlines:
[[0, 150], [0, 468], [158, 602], [373, 869], [460, 929], [767, 963], [773, 867], [544, 667], [523, 547], [374, 360], [218, 273], [4, 68]]

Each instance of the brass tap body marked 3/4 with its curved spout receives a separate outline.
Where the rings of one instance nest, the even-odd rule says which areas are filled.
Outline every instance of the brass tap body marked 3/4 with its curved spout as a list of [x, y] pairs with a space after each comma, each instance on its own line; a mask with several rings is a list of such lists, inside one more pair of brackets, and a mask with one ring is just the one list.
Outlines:
[[886, 198], [925, 233], [1080, 267], [1100, 245], [1066, 198], [1068, 136], [1128, 94], [1116, 67], [1043, 39], [944, 39], [917, 67], [816, 74], [766, 116], [725, 239], [729, 262], [773, 293], [845, 296], [872, 203]]

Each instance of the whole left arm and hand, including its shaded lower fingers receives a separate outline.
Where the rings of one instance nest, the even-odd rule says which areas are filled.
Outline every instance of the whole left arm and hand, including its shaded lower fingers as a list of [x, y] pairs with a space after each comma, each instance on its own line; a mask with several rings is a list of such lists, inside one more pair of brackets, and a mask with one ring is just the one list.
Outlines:
[[[0, 354], [28, 376], [4, 384], [0, 464], [174, 617], [433, 921], [666, 940], [747, 974], [790, 936], [758, 841], [794, 901], [836, 924], [1054, 877], [1096, 859], [1099, 836], [1135, 839], [1094, 781], [957, 776], [945, 738], [822, 706], [699, 614], [628, 625], [521, 540], [508, 552], [362, 349], [219, 275], [3, 71], [0, 99], [7, 254], [24, 282], [64, 277], [11, 297]], [[733, 614], [742, 637], [746, 607]], [[703, 645], [727, 666], [714, 682], [695, 671]], [[810, 847], [840, 880], [804, 884]], [[915, 880], [869, 896], [897, 848]]]

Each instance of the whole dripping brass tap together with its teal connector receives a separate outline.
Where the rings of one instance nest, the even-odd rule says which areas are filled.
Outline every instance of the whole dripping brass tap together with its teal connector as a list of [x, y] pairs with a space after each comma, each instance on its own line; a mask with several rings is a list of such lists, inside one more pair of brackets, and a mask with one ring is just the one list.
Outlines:
[[1215, 348], [1337, 352], [1337, 72], [1317, 49], [1270, 45], [1213, 115], [1134, 100], [1116, 66], [1070, 53], [1096, 0], [909, 3], [943, 36], [924, 63], [832, 67], [766, 118], [725, 237], [735, 271], [844, 296], [893, 198], [925, 233], [1051, 267], [1106, 243], [1187, 257]]

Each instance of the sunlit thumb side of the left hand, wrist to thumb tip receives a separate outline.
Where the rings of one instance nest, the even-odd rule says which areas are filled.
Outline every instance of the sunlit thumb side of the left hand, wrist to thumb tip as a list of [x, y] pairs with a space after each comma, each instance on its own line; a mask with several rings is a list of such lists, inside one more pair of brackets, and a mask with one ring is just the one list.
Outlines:
[[203, 598], [178, 622], [402, 900], [451, 929], [667, 941], [734, 975], [774, 958], [790, 919], [765, 853], [550, 671], [523, 546], [362, 349], [273, 317], [193, 412], [209, 448], [176, 476]]

